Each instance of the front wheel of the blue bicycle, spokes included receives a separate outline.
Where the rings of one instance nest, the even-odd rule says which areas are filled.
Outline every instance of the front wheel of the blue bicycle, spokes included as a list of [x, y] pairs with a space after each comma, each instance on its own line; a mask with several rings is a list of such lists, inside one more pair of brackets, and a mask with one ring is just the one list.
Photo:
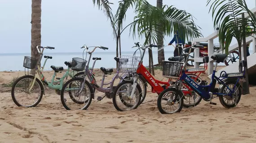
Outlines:
[[183, 107], [183, 97], [181, 91], [175, 88], [164, 89], [158, 96], [157, 107], [161, 114], [173, 114], [175, 112], [181, 112]]

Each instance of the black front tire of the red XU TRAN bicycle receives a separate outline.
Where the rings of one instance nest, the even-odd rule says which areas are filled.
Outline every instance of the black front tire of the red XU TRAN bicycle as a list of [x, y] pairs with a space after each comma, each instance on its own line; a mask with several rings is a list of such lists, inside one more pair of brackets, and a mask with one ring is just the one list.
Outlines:
[[[113, 105], [115, 106], [115, 109], [117, 109], [118, 111], [125, 111], [125, 110], [120, 109], [119, 106], [118, 106], [117, 103], [116, 103], [116, 97], [117, 97], [116, 93], [117, 93], [117, 90], [118, 90], [123, 84], [133, 84], [133, 81], [124, 80], [124, 81], [122, 81], [120, 84], [118, 84], [118, 85], [116, 86], [116, 88], [115, 88], [115, 90], [114, 90], [114, 93], [113, 93], [112, 101], [113, 101]], [[140, 102], [141, 102], [141, 92], [142, 92], [141, 87], [137, 84], [136, 88], [138, 89], [138, 91], [139, 91], [139, 93], [140, 93], [140, 95], [139, 95], [140, 98], [138, 98], [139, 101], [137, 102], [137, 104], [136, 104], [132, 109], [137, 109], [137, 107], [140, 105]], [[119, 98], [121, 99], [120, 95], [119, 95]], [[121, 100], [121, 101], [122, 101], [122, 100]], [[123, 101], [124, 101], [124, 100], [123, 100]], [[126, 102], [123, 102], [123, 101], [122, 101], [122, 103], [123, 103], [125, 106], [131, 107], [131, 105], [128, 105]], [[131, 109], [130, 109], [130, 110], [131, 110]]]

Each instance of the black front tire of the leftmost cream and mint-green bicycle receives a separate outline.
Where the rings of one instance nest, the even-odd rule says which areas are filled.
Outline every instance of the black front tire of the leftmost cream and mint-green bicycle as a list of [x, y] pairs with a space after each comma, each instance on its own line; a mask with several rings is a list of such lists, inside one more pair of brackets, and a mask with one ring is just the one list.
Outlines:
[[[34, 80], [35, 76], [31, 76], [31, 75], [26, 75], [26, 76], [21, 76], [19, 77], [17, 80], [15, 80], [15, 82], [13, 83], [13, 86], [12, 86], [12, 90], [11, 90], [11, 95], [12, 95], [12, 99], [13, 99], [13, 102], [17, 105], [17, 106], [22, 106], [21, 104], [18, 103], [18, 101], [16, 100], [15, 98], [15, 95], [14, 95], [14, 89], [16, 87], [16, 84], [18, 84], [18, 82], [20, 80], [23, 80], [25, 78], [31, 78], [32, 80]], [[25, 107], [35, 107], [36, 105], [38, 105], [40, 103], [40, 101], [42, 100], [42, 97], [43, 97], [43, 94], [44, 94], [44, 85], [41, 83], [41, 81], [39, 79], [35, 79], [35, 82], [37, 82], [40, 86], [40, 96], [38, 98], [38, 100], [32, 104], [32, 105], [29, 105], [29, 106], [25, 106]], [[34, 84], [35, 85], [35, 84]]]

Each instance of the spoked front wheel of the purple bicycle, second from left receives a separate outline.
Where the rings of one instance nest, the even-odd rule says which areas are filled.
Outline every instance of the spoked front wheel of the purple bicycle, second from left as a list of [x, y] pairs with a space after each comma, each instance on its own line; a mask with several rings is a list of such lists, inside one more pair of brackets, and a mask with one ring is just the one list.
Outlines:
[[62, 87], [61, 101], [65, 109], [87, 109], [92, 102], [93, 88], [83, 78], [72, 78]]

